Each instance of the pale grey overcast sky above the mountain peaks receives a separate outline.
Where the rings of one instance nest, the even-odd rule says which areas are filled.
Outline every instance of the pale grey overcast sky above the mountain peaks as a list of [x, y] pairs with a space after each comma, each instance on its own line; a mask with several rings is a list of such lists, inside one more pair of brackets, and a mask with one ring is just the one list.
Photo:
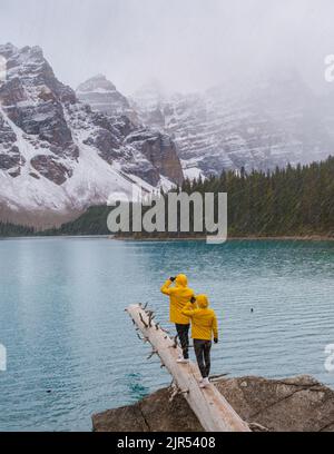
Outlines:
[[102, 72], [125, 93], [191, 91], [292, 66], [317, 89], [333, 18], [333, 0], [0, 0], [0, 42], [41, 46], [73, 87]]

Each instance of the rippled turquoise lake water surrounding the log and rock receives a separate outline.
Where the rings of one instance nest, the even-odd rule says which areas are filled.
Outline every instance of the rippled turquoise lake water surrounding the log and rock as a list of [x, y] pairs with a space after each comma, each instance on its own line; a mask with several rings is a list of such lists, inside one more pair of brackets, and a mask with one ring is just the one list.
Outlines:
[[219, 317], [213, 374], [311, 374], [334, 387], [334, 243], [1, 240], [0, 431], [90, 431], [92, 413], [168, 385], [124, 309], [149, 303], [167, 326], [159, 288], [180, 272]]

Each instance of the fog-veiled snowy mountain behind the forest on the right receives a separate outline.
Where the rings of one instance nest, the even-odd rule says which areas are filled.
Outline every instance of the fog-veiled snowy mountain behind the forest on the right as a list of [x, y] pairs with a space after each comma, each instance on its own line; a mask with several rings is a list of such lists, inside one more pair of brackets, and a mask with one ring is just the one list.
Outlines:
[[130, 103], [143, 124], [175, 139], [190, 178], [240, 167], [266, 170], [334, 154], [334, 105], [324, 109], [324, 99], [297, 72], [237, 88], [171, 96], [150, 88]]

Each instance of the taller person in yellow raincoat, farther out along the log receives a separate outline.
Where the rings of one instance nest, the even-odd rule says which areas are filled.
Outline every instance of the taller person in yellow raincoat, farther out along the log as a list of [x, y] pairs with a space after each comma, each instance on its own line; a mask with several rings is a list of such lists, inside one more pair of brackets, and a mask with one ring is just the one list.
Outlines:
[[[175, 285], [174, 285], [175, 284]], [[189, 329], [190, 320], [181, 312], [186, 305], [195, 297], [195, 293], [188, 287], [187, 276], [180, 274], [177, 277], [170, 277], [161, 287], [161, 293], [169, 296], [169, 319], [175, 324], [179, 337], [183, 357], [178, 363], [189, 362]]]

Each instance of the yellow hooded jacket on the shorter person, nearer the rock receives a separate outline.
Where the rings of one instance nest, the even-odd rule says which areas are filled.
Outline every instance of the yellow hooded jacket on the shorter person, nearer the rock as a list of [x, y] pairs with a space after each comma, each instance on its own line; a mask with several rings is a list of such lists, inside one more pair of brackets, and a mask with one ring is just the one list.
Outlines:
[[196, 297], [197, 307], [188, 304], [183, 314], [191, 319], [193, 339], [212, 340], [218, 338], [218, 322], [214, 309], [209, 309], [206, 295]]

